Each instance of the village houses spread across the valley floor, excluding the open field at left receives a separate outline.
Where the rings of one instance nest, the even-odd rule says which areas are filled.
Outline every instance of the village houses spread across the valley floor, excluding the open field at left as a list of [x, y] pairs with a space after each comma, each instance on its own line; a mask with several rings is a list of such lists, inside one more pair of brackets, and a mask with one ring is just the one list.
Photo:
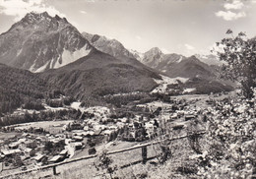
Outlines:
[[[104, 142], [116, 139], [142, 142], [157, 135], [162, 121], [188, 121], [201, 112], [200, 108], [188, 108], [184, 101], [155, 102], [140, 107], [150, 108], [154, 117], [135, 115], [132, 118], [111, 118], [107, 108], [95, 107], [86, 111], [89, 117], [84, 120], [63, 125], [62, 132], [45, 134], [40, 128], [34, 128], [31, 132], [27, 130], [23, 135], [0, 142], [0, 160], [6, 168], [23, 165], [30, 168], [60, 162], [72, 157], [76, 150], [89, 148], [87, 140], [91, 137], [103, 137]], [[183, 125], [172, 127], [173, 130], [181, 128]]]

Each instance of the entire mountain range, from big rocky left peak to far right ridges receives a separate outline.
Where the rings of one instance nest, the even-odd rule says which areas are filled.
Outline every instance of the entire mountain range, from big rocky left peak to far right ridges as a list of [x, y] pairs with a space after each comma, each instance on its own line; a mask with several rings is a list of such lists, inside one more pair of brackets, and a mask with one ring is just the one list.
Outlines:
[[[205, 59], [198, 55], [163, 54], [158, 47], [146, 53], [128, 50], [115, 39], [80, 33], [65, 18], [47, 13], [29, 13], [0, 34], [0, 63], [8, 65], [2, 68], [13, 69], [14, 74], [29, 74], [21, 75], [28, 78], [22, 82], [29, 87], [32, 79], [38, 78], [47, 82], [45, 86], [57, 87], [81, 100], [100, 100], [114, 93], [151, 92], [159, 86], [156, 80], [161, 80], [162, 75], [196, 79], [197, 87], [198, 79], [204, 79], [204, 83], [215, 81], [220, 86], [223, 82], [219, 83], [215, 74], [218, 66]], [[4, 74], [2, 78], [8, 79]], [[193, 88], [194, 81], [188, 82]]]

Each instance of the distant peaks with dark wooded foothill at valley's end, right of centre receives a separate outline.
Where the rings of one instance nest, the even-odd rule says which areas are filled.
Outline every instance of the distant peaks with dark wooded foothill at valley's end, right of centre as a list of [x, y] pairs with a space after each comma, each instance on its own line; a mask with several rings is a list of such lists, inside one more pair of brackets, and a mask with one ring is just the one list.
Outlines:
[[158, 47], [154, 47], [144, 54], [133, 52], [134, 56], [138, 54], [137, 59], [142, 63], [170, 78], [189, 79], [187, 82], [179, 84], [180, 91], [193, 89], [192, 93], [211, 93], [229, 91], [234, 87], [234, 84], [218, 78], [218, 71], [220, 71], [222, 63], [214, 55], [185, 57], [175, 53], [163, 54]]

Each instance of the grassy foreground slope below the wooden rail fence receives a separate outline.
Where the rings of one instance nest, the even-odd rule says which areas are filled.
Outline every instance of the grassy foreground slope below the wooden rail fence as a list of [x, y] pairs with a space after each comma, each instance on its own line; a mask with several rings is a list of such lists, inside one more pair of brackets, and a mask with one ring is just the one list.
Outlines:
[[[172, 152], [171, 159], [167, 160], [166, 163], [162, 165], [151, 164], [150, 161], [146, 165], [138, 163], [136, 165], [131, 165], [123, 169], [118, 169], [113, 176], [118, 176], [120, 178], [130, 179], [139, 178], [142, 174], [147, 174], [147, 178], [151, 179], [167, 179], [167, 178], [188, 178], [188, 176], [181, 175], [176, 171], [177, 167], [183, 166], [189, 159], [189, 156], [195, 154], [195, 152], [189, 147], [187, 139], [180, 141], [174, 141], [169, 144]], [[160, 146], [149, 147], [148, 156], [153, 156], [159, 153]], [[140, 160], [141, 149], [134, 149], [131, 151], [126, 151], [123, 153], [118, 153], [115, 155], [110, 155], [113, 159], [112, 165], [117, 165], [118, 167], [128, 164], [133, 161]], [[154, 159], [157, 161], [157, 159]], [[48, 178], [52, 179], [81, 179], [81, 178], [97, 178], [103, 173], [102, 171], [97, 171], [94, 163], [97, 163], [97, 158], [91, 158], [88, 160], [81, 160], [74, 163], [69, 163], [66, 165], [61, 165], [57, 167], [57, 172], [60, 174], [57, 176], [52, 176], [52, 170], [39, 171], [36, 173], [30, 173], [26, 175], [21, 175], [19, 178], [27, 179], [37, 179], [39, 177], [45, 177], [51, 175]], [[101, 175], [102, 176], [102, 175]], [[109, 178], [109, 175], [106, 174]]]

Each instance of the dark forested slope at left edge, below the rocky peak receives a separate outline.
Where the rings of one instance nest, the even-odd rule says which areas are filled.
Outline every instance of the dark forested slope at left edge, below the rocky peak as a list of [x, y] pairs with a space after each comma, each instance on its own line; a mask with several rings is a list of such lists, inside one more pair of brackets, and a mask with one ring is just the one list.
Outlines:
[[43, 109], [40, 99], [52, 98], [60, 93], [37, 74], [0, 64], [0, 116], [22, 104], [27, 109]]

